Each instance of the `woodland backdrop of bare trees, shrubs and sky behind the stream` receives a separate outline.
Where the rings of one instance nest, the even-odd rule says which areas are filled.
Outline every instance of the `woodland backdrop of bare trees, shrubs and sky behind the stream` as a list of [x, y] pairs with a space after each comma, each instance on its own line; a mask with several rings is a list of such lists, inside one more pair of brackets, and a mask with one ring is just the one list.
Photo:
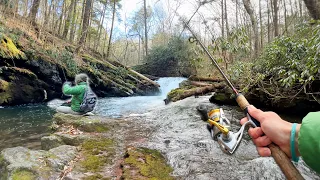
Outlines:
[[[275, 107], [280, 101], [285, 107], [318, 106], [316, 0], [144, 0], [133, 12], [122, 9], [126, 3], [4, 0], [1, 19], [7, 19], [5, 26], [29, 32], [40, 51], [56, 49], [70, 59], [87, 53], [160, 77], [219, 76], [182, 18], [249, 98]], [[21, 33], [12, 34], [19, 43]], [[66, 63], [67, 69], [79, 66]]]

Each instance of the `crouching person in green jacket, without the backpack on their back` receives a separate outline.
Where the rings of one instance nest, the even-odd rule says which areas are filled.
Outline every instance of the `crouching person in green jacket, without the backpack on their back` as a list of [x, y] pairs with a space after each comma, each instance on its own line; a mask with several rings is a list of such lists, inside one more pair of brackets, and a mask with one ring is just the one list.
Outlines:
[[56, 110], [66, 114], [83, 114], [80, 112], [80, 105], [87, 86], [89, 86], [89, 78], [86, 74], [78, 74], [75, 77], [75, 86], [71, 86], [70, 82], [65, 82], [62, 86], [62, 92], [65, 95], [72, 95], [71, 102], [64, 103]]

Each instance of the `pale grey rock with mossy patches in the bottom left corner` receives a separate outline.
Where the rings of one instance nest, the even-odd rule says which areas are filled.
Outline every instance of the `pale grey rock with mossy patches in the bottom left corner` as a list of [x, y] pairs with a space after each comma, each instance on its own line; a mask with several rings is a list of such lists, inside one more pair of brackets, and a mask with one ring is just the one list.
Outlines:
[[76, 147], [67, 145], [49, 151], [24, 147], [4, 149], [0, 158], [0, 179], [55, 179], [76, 153]]

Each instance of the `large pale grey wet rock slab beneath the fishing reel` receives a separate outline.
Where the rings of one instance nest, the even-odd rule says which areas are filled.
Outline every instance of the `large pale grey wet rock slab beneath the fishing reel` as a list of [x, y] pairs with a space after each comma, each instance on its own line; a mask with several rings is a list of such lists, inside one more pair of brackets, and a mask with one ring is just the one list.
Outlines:
[[[143, 120], [154, 131], [143, 146], [161, 151], [174, 169], [172, 174], [181, 179], [284, 179], [273, 158], [258, 155], [247, 132], [234, 154], [221, 150], [196, 109], [199, 104], [219, 108], [210, 103], [209, 98], [190, 97], [150, 110]], [[236, 106], [220, 107], [231, 122], [230, 129], [238, 131], [243, 112]], [[168, 139], [170, 143], [164, 143]], [[320, 179], [303, 161], [297, 167], [305, 179]]]

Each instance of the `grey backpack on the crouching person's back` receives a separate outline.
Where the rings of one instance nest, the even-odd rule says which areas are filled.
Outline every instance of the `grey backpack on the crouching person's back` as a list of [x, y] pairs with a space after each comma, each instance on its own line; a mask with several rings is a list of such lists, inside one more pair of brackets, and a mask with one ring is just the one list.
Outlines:
[[83, 95], [82, 103], [80, 104], [80, 111], [84, 113], [93, 111], [97, 100], [97, 95], [94, 94], [90, 87], [87, 87]]

